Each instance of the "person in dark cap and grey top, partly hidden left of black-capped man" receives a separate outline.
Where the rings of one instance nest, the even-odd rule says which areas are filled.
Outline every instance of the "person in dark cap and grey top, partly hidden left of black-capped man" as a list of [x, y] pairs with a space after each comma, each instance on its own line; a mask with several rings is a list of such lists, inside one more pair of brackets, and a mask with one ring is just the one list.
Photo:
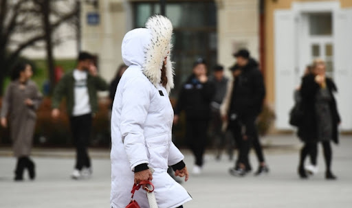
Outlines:
[[[225, 146], [225, 132], [222, 130], [223, 122], [220, 115], [220, 106], [223, 102], [223, 97], [225, 97], [228, 78], [223, 76], [223, 66], [221, 65], [215, 66], [213, 71], [213, 75], [209, 78], [215, 88], [214, 97], [212, 97], [212, 102], [210, 103], [212, 111], [210, 132], [212, 132], [212, 141], [216, 149], [216, 159], [220, 160], [222, 149]], [[231, 146], [228, 146], [228, 148], [231, 148]]]

